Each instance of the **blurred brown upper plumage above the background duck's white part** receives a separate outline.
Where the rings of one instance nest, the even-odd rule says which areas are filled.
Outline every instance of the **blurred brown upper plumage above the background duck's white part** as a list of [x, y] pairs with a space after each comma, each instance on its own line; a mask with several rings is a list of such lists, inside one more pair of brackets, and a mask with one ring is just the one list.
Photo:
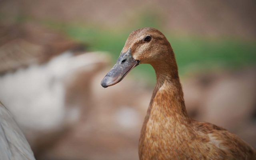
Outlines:
[[81, 44], [36, 24], [0, 24], [0, 74], [43, 64], [67, 50], [80, 49]]

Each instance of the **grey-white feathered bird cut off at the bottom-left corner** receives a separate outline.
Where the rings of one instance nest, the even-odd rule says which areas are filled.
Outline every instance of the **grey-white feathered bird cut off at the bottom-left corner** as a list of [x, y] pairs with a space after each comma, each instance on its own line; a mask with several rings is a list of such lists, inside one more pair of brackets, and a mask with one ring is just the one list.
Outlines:
[[36, 160], [12, 114], [0, 101], [0, 160]]

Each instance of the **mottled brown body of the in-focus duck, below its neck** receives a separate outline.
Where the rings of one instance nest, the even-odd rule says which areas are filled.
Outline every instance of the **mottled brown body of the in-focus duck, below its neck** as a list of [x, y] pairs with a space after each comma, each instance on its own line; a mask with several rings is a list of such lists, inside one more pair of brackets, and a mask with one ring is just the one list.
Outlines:
[[189, 118], [173, 83], [166, 80], [155, 88], [141, 131], [140, 160], [255, 159], [254, 150], [236, 135]]

